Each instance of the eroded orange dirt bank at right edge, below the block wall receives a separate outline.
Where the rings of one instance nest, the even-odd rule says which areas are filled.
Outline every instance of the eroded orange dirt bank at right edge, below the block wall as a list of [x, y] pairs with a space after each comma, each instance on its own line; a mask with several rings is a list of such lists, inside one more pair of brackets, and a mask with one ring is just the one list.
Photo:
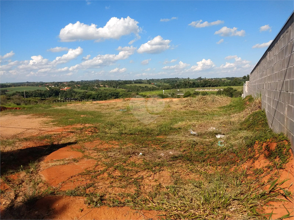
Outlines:
[[[280, 144], [287, 144], [287, 142], [278, 143]], [[276, 182], [277, 191], [283, 192], [282, 189], [286, 189], [289, 192], [294, 192], [294, 160], [292, 151], [289, 151], [289, 160], [287, 163], [283, 165], [283, 169], [278, 169], [278, 166], [283, 163], [283, 158], [279, 158], [278, 156], [273, 160], [271, 159], [271, 155], [273, 155], [277, 151], [277, 143], [271, 142], [270, 140], [264, 142], [262, 145], [259, 143], [255, 143], [253, 151], [255, 157], [249, 159], [242, 165], [242, 169], [248, 170], [247, 173], [252, 175], [259, 175], [262, 177], [262, 181], [265, 183], [269, 183], [273, 180], [278, 180]], [[249, 152], [250, 153], [250, 152]], [[283, 152], [283, 155], [286, 152]], [[285, 182], [283, 182], [285, 181]], [[281, 183], [281, 184], [280, 184]], [[265, 185], [264, 189], [269, 190], [270, 184]], [[271, 215], [271, 219], [277, 219], [281, 216], [285, 216], [290, 212], [290, 218], [283, 218], [283, 219], [293, 219], [294, 213], [294, 202], [285, 199], [285, 197], [278, 197], [278, 199], [282, 199], [282, 201], [270, 201], [263, 207], [263, 213], [268, 213], [265, 216], [269, 217]], [[283, 201], [284, 200], [284, 201]], [[270, 214], [272, 213], [272, 214]]]

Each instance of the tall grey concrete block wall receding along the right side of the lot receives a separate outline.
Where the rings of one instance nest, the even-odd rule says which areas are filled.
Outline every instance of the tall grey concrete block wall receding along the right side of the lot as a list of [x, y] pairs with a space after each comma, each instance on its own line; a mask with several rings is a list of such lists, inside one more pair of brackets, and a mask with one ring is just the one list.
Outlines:
[[268, 125], [285, 133], [294, 150], [294, 14], [270, 44], [244, 84], [243, 97], [261, 95]]

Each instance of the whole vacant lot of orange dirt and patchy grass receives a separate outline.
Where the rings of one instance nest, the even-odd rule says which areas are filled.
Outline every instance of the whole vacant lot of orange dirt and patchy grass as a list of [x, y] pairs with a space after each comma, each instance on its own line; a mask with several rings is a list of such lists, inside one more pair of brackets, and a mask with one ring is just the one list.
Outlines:
[[[75, 109], [72, 116], [64, 114], [72, 118], [58, 123], [50, 116], [36, 117], [22, 110], [11, 110], [19, 111], [17, 114], [1, 112], [1, 219], [244, 218], [248, 210], [242, 202], [237, 204], [234, 199], [227, 207], [221, 205], [226, 208], [218, 205], [218, 208], [209, 208], [218, 200], [206, 198], [197, 190], [214, 190], [212, 182], [217, 184], [217, 190], [209, 191], [210, 194], [223, 190], [222, 185], [227, 185], [223, 194], [234, 190], [234, 187], [236, 192], [244, 189], [244, 194], [240, 195], [244, 198], [248, 190], [259, 194], [265, 190], [264, 197], [258, 197], [260, 200], [253, 200], [254, 193], [249, 194], [247, 200], [252, 199], [252, 203], [256, 203], [255, 208], [249, 211], [268, 213], [263, 215], [266, 218], [284, 216], [284, 219], [293, 219], [289, 217], [294, 212], [291, 200], [294, 192], [293, 154], [288, 150], [290, 156], [287, 158], [290, 159], [281, 155], [274, 160], [269, 157], [278, 147], [288, 146], [286, 141], [278, 144], [272, 139], [255, 142], [254, 147], [244, 153], [245, 156], [242, 154], [246, 157], [252, 153], [251, 156], [242, 160], [241, 153], [234, 153], [237, 147], [232, 150], [222, 148], [215, 137], [217, 132], [226, 135], [221, 142], [224, 147], [229, 143], [243, 146], [245, 135], [248, 135], [244, 130], [238, 134], [230, 133], [234, 126], [238, 126], [240, 117], [245, 116], [241, 113], [221, 115], [220, 110], [215, 109], [225, 100], [213, 101], [213, 118], [211, 112], [206, 113], [209, 104], [205, 100], [203, 103], [198, 101], [197, 107], [193, 107], [193, 100], [159, 101], [165, 101], [165, 109], [169, 109], [148, 126], [131, 114], [132, 109], [120, 111], [127, 109], [130, 102], [122, 99], [54, 106], [52, 109], [59, 109], [56, 111], [60, 114], [65, 109], [71, 112]], [[97, 106], [93, 107], [95, 104], [99, 105], [98, 110]], [[87, 108], [91, 111], [84, 112]], [[249, 111], [248, 108], [244, 112]], [[178, 119], [175, 109], [181, 109], [186, 115]], [[196, 109], [202, 112], [201, 117], [207, 114], [207, 119], [193, 118]], [[91, 119], [94, 111], [111, 113], [113, 120], [108, 116], [103, 121], [98, 113]], [[78, 119], [74, 114], [79, 116]], [[74, 120], [78, 123], [68, 125]], [[168, 120], [172, 124], [167, 126]], [[180, 130], [183, 127], [185, 129]], [[190, 128], [197, 135], [190, 134]], [[148, 129], [153, 130], [150, 132]], [[210, 155], [215, 153], [208, 150], [212, 145], [217, 148], [217, 156]], [[286, 163], [278, 168], [284, 160]], [[232, 178], [232, 182], [226, 182], [226, 178]], [[276, 178], [279, 179], [271, 185]], [[196, 194], [190, 195], [190, 191]], [[283, 197], [284, 192], [289, 193], [289, 197]], [[196, 197], [210, 202], [201, 209], [197, 208], [200, 205], [194, 201]], [[275, 197], [286, 199], [270, 201]], [[187, 206], [185, 210], [183, 207]], [[244, 206], [247, 206], [245, 202]], [[209, 211], [212, 209], [215, 211]]]

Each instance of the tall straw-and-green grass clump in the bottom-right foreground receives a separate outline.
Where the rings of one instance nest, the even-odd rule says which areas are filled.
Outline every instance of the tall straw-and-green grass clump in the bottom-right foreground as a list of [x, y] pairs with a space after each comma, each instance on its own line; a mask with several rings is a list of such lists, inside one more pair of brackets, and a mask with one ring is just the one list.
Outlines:
[[[201, 170], [201, 169], [200, 169]], [[257, 181], [244, 182], [243, 173], [201, 172], [198, 179], [177, 181], [165, 187], [155, 199], [131, 202], [135, 208], [162, 210], [168, 219], [256, 219], [264, 216], [257, 211], [258, 203], [274, 199], [278, 184], [269, 190], [256, 187]]]

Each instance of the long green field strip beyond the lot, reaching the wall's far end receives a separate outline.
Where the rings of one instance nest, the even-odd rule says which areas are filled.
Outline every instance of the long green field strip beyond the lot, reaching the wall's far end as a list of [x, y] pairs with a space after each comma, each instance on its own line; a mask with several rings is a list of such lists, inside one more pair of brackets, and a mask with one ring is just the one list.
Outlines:
[[[164, 94], [185, 93], [187, 91], [193, 93], [195, 91], [195, 89], [225, 89], [226, 87], [228, 87], [228, 86], [202, 87], [202, 88], [189, 88], [189, 89], [166, 89], [166, 90], [164, 90]], [[243, 86], [230, 86], [230, 87], [232, 87], [234, 89], [237, 89], [238, 91], [243, 91]], [[208, 93], [216, 93], [216, 92], [208, 92]], [[155, 90], [155, 91], [140, 92], [139, 94], [142, 94], [142, 95], [157, 95], [157, 94], [163, 94], [163, 91], [162, 90]]]

